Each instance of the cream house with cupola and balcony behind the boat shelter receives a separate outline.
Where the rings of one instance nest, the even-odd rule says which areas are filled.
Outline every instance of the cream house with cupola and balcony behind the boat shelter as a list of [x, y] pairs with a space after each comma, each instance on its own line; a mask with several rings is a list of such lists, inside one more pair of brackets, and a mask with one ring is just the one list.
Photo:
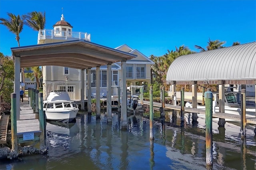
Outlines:
[[[54, 42], [64, 42], [70, 40], [91, 40], [91, 35], [86, 32], [73, 32], [73, 27], [70, 23], [64, 20], [64, 15], [62, 14], [60, 21], [56, 22], [53, 25], [52, 30], [39, 30], [38, 32], [38, 44], [44, 43], [54, 43]], [[128, 45], [124, 44], [116, 49], [120, 51], [125, 51], [128, 53], [136, 54], [138, 57], [135, 59], [131, 59], [126, 61], [126, 78], [127, 81], [130, 81], [132, 85], [135, 85], [136, 82], [139, 82], [139, 85], [144, 85], [144, 89], [147, 89], [150, 84], [150, 68], [151, 65], [154, 64], [148, 57], [140, 53], [140, 51], [136, 49], [132, 49]], [[120, 85], [120, 75], [121, 75], [121, 63], [112, 63], [112, 95], [118, 95], [117, 88]], [[81, 70], [74, 69], [69, 67], [60, 67], [54, 65], [46, 65], [42, 67], [43, 73], [43, 84], [47, 85], [47, 83], [52, 81], [67, 81], [67, 91], [70, 95], [70, 99], [78, 100], [81, 97]], [[88, 81], [87, 74], [85, 73], [85, 85]], [[91, 69], [91, 95], [96, 93], [96, 68]], [[59, 85], [58, 89], [64, 89]], [[100, 94], [104, 93], [104, 96], [107, 95], [107, 65], [100, 67]], [[88, 95], [88, 91], [86, 89], [86, 93], [84, 94], [85, 99]], [[44, 94], [44, 97], [46, 94]]]

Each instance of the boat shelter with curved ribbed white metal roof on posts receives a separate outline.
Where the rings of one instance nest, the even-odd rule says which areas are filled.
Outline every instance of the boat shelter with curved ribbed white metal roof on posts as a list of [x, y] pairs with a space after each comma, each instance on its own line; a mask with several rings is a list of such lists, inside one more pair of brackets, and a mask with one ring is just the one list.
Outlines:
[[176, 84], [192, 85], [193, 108], [198, 84], [219, 85], [219, 111], [224, 113], [225, 84], [254, 84], [256, 89], [256, 42], [180, 56], [170, 65], [166, 82], [172, 86], [172, 99]]

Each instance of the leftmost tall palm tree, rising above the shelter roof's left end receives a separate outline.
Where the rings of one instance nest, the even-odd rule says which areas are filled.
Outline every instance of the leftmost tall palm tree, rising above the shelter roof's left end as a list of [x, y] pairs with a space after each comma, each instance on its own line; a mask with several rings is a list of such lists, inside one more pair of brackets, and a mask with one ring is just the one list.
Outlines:
[[[0, 18], [0, 24], [6, 26], [10, 32], [16, 35], [15, 39], [18, 42], [18, 47], [20, 47], [20, 32], [23, 29], [23, 19], [20, 15], [16, 16], [12, 13], [7, 13], [7, 15], [9, 16], [8, 19]], [[22, 79], [25, 83], [24, 68], [22, 68]]]

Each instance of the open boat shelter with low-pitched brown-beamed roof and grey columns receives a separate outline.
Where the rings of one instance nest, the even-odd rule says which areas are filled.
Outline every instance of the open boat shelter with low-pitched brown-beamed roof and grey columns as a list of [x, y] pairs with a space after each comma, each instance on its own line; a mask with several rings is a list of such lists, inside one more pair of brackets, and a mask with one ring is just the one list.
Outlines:
[[[100, 66], [107, 65], [107, 89], [111, 91], [112, 74], [111, 64], [121, 62], [121, 97], [127, 99], [126, 95], [126, 60], [137, 57], [137, 55], [126, 53], [117, 49], [88, 42], [85, 40], [74, 40], [67, 42], [46, 43], [11, 48], [14, 57], [15, 77], [14, 93], [20, 92], [20, 68], [36, 67], [43, 65], [56, 65], [81, 69], [81, 82], [84, 87], [84, 70], [91, 76], [91, 68], [96, 67], [96, 111], [100, 113]], [[81, 89], [84, 94], [84, 88]], [[91, 82], [88, 81], [88, 94], [91, 93]], [[111, 101], [111, 93], [107, 94], [107, 100]], [[124, 102], [126, 100], [123, 100]], [[17, 108], [20, 108], [20, 101], [16, 99]], [[81, 108], [84, 109], [84, 95], [81, 95]], [[111, 102], [107, 105], [108, 121], [111, 121]], [[88, 113], [91, 113], [91, 95], [88, 95]], [[20, 110], [17, 109], [17, 120], [20, 119]], [[127, 124], [127, 105], [121, 108], [122, 125]]]

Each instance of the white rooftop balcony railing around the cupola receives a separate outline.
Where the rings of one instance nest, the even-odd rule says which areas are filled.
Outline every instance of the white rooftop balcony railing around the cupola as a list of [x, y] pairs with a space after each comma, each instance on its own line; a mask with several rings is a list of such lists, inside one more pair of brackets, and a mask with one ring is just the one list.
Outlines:
[[63, 39], [63, 40], [80, 40], [91, 41], [91, 34], [86, 32], [69, 32], [59, 30], [39, 30], [38, 40], [46, 39]]

